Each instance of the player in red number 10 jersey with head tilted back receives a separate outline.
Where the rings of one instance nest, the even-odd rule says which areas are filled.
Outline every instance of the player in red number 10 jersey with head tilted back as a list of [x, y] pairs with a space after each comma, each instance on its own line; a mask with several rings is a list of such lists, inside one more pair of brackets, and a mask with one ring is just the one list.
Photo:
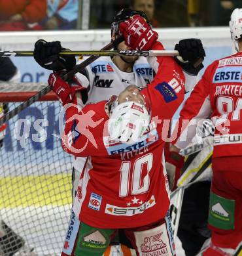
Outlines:
[[[131, 49], [164, 49], [140, 16], [121, 25]], [[118, 97], [82, 110], [74, 96], [66, 110], [63, 149], [88, 161], [62, 256], [102, 255], [117, 228], [124, 228], [137, 255], [175, 255], [163, 148], [169, 120], [184, 99], [185, 78], [171, 57], [152, 57], [150, 65], [156, 76], [141, 91], [130, 85]], [[48, 82], [60, 98], [60, 91], [66, 95], [69, 85], [58, 75]]]

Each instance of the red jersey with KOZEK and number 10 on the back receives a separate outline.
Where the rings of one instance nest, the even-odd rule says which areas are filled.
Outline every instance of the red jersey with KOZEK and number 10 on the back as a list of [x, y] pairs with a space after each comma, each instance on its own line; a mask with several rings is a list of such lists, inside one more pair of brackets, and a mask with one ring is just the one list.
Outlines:
[[[156, 49], [161, 48], [157, 43]], [[143, 226], [162, 219], [169, 209], [164, 140], [184, 99], [184, 75], [172, 57], [152, 58], [152, 64], [156, 77], [141, 91], [152, 102], [152, 116], [139, 141], [125, 144], [109, 137], [107, 101], [88, 104], [78, 114], [75, 106], [67, 109], [63, 149], [88, 156], [73, 210], [91, 226]]]

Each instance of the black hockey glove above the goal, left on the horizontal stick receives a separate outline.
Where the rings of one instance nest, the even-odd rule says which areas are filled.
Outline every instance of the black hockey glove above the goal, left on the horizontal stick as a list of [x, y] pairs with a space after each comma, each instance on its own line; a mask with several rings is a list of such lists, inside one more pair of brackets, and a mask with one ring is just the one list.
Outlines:
[[65, 51], [65, 48], [61, 47], [60, 41], [46, 42], [39, 39], [35, 43], [33, 57], [41, 67], [47, 70], [72, 70], [76, 64], [75, 56], [60, 56], [61, 51]]

